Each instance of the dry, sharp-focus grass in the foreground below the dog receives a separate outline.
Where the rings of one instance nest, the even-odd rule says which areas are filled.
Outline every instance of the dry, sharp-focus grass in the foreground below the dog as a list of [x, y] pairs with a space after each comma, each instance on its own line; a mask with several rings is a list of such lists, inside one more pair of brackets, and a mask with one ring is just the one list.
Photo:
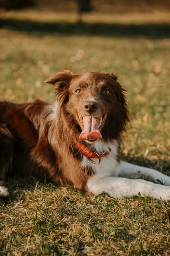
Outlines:
[[[169, 255], [170, 205], [52, 184], [8, 183], [0, 248], [9, 255]], [[16, 187], [17, 188], [16, 189]], [[3, 254], [2, 254], [3, 255]], [[4, 254], [6, 255], [6, 254]]]

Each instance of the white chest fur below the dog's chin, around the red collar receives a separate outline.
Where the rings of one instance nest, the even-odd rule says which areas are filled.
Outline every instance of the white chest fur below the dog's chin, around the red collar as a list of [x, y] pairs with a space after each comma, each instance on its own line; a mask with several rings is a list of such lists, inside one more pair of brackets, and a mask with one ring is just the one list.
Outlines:
[[[108, 152], [109, 148], [111, 149], [110, 154], [102, 158], [100, 164], [94, 164], [90, 162], [85, 156], [83, 156], [82, 165], [92, 167], [96, 179], [117, 176], [116, 169], [119, 165], [117, 161], [118, 142], [115, 141], [114, 143], [104, 143], [102, 142], [102, 140], [98, 140], [94, 144], [92, 144], [92, 149], [99, 153], [103, 153], [104, 151]], [[92, 160], [98, 162], [98, 159], [96, 158], [93, 158]]]

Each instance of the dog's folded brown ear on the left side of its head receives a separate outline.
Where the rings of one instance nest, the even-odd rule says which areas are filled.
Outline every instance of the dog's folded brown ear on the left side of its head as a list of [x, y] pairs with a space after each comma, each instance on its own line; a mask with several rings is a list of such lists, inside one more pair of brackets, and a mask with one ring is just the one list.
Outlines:
[[55, 88], [55, 94], [58, 96], [58, 100], [61, 105], [66, 102], [69, 96], [69, 86], [71, 79], [76, 76], [70, 70], [64, 70], [56, 73], [54, 76], [50, 77], [45, 83], [53, 84]]

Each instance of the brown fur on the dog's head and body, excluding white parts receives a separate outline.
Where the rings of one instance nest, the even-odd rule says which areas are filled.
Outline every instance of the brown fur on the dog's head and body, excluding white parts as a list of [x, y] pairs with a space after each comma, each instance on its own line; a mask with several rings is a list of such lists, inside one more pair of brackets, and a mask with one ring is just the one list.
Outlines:
[[[49, 118], [54, 111], [52, 105], [40, 100], [25, 104], [0, 102], [0, 176], [41, 178], [46, 173], [54, 182], [70, 182], [85, 191], [93, 171], [81, 166], [82, 155], [73, 143], [81, 133], [78, 114], [86, 114], [83, 104], [94, 97], [99, 107], [92, 115], [102, 116], [108, 111], [102, 140], [121, 142], [129, 121], [124, 90], [117, 76], [102, 73], [65, 70], [46, 82], [54, 85], [58, 96], [54, 119]], [[106, 88], [108, 95], [102, 93]], [[75, 93], [77, 89], [82, 93]]]

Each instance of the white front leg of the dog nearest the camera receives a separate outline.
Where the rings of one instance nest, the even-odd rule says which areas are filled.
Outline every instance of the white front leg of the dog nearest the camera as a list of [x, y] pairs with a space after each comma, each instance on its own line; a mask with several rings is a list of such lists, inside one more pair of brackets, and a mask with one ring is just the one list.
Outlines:
[[87, 182], [90, 192], [95, 195], [102, 192], [108, 193], [114, 198], [141, 196], [154, 197], [156, 199], [169, 200], [170, 186], [155, 184], [144, 179], [126, 179], [120, 177], [104, 177], [97, 179], [95, 175]]

